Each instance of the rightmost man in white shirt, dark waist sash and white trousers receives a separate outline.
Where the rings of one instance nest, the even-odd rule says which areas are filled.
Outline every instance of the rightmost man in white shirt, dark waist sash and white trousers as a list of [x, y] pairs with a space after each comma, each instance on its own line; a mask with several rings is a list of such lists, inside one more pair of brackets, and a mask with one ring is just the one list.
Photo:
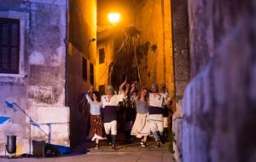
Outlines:
[[158, 84], [152, 84], [151, 93], [149, 93], [149, 107], [148, 107], [148, 122], [150, 130], [153, 133], [156, 147], [160, 147], [160, 136], [164, 132], [164, 117], [163, 117], [163, 103], [166, 95], [159, 93]]

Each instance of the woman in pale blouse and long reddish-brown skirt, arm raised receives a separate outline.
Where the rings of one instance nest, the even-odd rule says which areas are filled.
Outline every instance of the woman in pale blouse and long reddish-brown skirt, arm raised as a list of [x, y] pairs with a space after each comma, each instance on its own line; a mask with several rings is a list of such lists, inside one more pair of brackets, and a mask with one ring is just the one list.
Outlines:
[[105, 132], [102, 123], [102, 102], [98, 91], [92, 91], [92, 99], [86, 94], [86, 99], [90, 103], [90, 133], [91, 141], [96, 141], [96, 149], [99, 148], [99, 140], [105, 139]]

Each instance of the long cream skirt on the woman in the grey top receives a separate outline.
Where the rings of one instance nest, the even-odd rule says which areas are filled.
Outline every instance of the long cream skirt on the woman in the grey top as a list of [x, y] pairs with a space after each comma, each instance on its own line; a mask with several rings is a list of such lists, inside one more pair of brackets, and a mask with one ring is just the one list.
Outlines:
[[150, 127], [148, 123], [148, 114], [137, 113], [135, 122], [133, 124], [131, 135], [137, 136], [137, 138], [141, 138], [143, 136], [150, 135]]

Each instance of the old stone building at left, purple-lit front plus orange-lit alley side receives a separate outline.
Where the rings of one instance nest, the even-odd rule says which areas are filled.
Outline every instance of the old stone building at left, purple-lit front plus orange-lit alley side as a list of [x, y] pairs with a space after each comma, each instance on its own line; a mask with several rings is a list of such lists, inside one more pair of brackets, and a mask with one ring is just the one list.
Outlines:
[[79, 96], [94, 85], [96, 1], [1, 0], [0, 32], [0, 154], [9, 135], [16, 154], [32, 140], [75, 146]]

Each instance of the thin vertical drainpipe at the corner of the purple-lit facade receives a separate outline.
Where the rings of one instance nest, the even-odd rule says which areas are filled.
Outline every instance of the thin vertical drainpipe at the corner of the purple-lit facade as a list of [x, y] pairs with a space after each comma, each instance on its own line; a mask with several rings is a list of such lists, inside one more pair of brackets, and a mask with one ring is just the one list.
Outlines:
[[65, 63], [65, 106], [67, 107], [67, 95], [68, 95], [68, 72], [67, 72], [67, 64], [68, 64], [68, 22], [69, 22], [69, 0], [66, 0], [66, 63]]

